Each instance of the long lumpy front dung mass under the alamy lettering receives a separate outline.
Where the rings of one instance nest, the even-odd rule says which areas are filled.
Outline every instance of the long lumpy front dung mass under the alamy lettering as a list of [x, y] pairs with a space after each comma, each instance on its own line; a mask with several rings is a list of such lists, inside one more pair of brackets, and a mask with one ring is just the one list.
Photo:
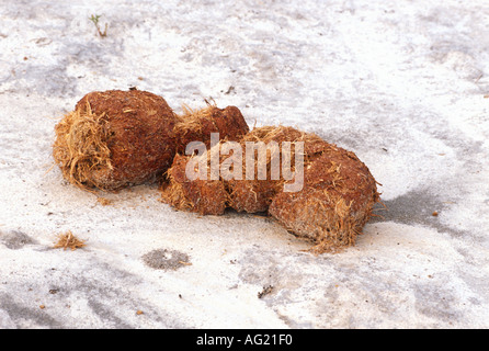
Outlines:
[[[331, 252], [355, 244], [379, 194], [368, 168], [353, 152], [315, 134], [283, 126], [254, 128], [240, 140], [243, 150], [247, 141], [269, 146], [271, 141], [278, 146], [284, 141], [295, 145], [302, 141], [304, 148], [289, 148], [288, 156], [283, 148], [266, 148], [265, 157], [253, 155], [253, 177], [246, 177], [243, 167], [240, 179], [190, 180], [185, 176], [186, 166], [201, 165], [195, 158], [203, 156], [179, 157], [169, 169], [170, 182], [162, 191], [162, 200], [178, 210], [201, 214], [219, 215], [226, 207], [248, 213], [268, 211], [289, 231], [314, 242], [315, 252]], [[207, 151], [206, 161], [212, 159], [212, 152], [215, 148]], [[283, 160], [286, 156], [288, 160], [295, 159], [297, 152], [304, 170], [302, 186], [284, 191], [295, 180], [284, 177], [283, 168], [280, 177], [273, 179], [274, 159]], [[220, 166], [227, 158], [219, 156]], [[212, 168], [209, 162], [205, 165]], [[296, 171], [296, 166], [291, 162], [291, 172]], [[266, 169], [265, 179], [258, 177], [260, 168]]]

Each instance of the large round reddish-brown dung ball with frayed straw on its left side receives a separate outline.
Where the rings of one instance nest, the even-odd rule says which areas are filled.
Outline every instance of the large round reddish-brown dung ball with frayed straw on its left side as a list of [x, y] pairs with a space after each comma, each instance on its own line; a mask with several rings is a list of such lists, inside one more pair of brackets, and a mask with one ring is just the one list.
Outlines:
[[53, 156], [65, 179], [83, 189], [152, 181], [175, 155], [177, 120], [150, 92], [91, 92], [56, 125]]

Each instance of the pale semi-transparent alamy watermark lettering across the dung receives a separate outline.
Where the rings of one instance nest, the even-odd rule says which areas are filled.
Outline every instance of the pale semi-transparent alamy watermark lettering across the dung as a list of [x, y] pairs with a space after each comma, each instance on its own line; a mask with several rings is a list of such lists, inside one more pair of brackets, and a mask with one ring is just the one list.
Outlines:
[[[246, 180], [283, 179], [285, 192], [298, 192], [304, 186], [304, 141], [282, 141], [281, 144], [274, 140], [268, 144], [246, 141], [243, 150], [240, 143], [220, 141], [219, 133], [211, 133], [209, 152], [202, 141], [192, 141], [186, 145], [185, 155], [194, 157], [186, 163], [185, 176], [191, 181], [196, 179], [243, 180], [244, 170]], [[221, 161], [223, 155], [229, 156]], [[268, 177], [269, 155], [270, 178]]]

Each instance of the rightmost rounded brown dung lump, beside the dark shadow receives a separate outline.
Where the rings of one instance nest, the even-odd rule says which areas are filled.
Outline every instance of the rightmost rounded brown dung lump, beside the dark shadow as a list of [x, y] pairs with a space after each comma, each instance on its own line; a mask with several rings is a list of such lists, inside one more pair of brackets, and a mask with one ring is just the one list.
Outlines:
[[315, 148], [306, 156], [304, 188], [278, 193], [269, 213], [316, 244], [312, 250], [320, 253], [353, 246], [379, 194], [368, 168], [353, 152], [326, 141]]

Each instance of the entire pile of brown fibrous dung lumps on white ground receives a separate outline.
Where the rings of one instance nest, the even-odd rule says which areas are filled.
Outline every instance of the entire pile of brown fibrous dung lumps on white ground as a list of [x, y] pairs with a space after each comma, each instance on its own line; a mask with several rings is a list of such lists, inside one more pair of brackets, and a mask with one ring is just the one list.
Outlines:
[[293, 127], [250, 132], [236, 106], [178, 115], [150, 92], [91, 92], [55, 132], [54, 159], [77, 186], [160, 181], [162, 202], [177, 210], [266, 212], [318, 253], [354, 245], [379, 202], [353, 152]]

